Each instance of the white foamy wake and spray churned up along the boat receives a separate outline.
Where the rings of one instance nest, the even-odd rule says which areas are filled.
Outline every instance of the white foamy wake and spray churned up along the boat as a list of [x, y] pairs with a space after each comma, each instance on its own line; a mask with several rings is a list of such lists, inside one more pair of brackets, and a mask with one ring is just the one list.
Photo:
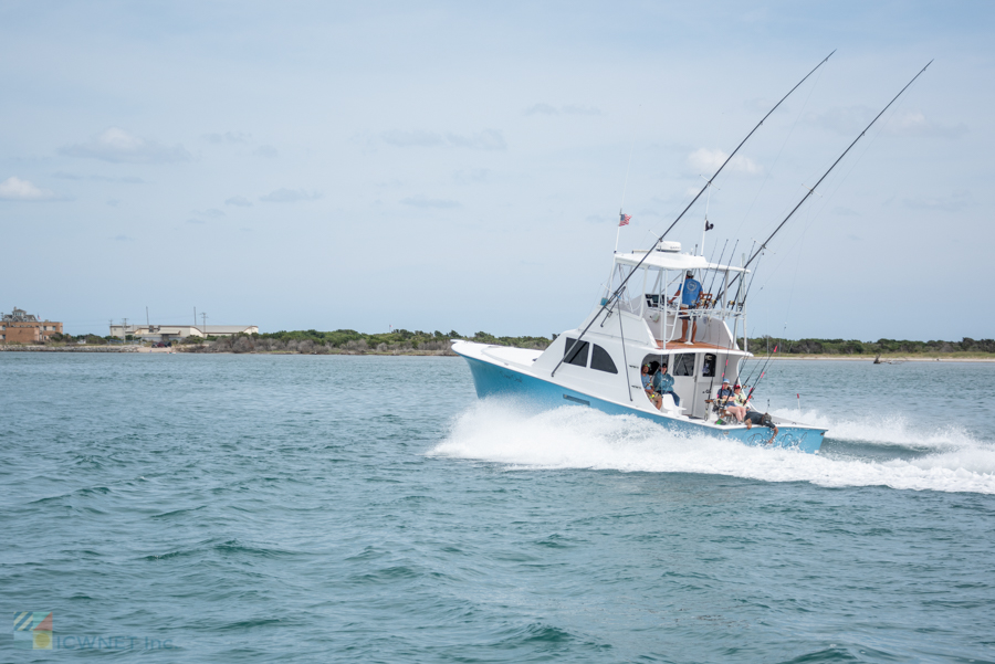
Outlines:
[[[798, 419], [797, 411], [775, 414]], [[803, 419], [829, 429], [823, 454], [685, 438], [636, 417], [580, 407], [534, 413], [514, 402], [484, 400], [458, 415], [429, 454], [512, 468], [703, 473], [831, 487], [995, 494], [995, 445], [962, 430], [919, 431], [900, 418], [834, 422], [808, 412]], [[835, 452], [834, 441], [856, 445]], [[867, 446], [874, 453], [861, 455]]]

